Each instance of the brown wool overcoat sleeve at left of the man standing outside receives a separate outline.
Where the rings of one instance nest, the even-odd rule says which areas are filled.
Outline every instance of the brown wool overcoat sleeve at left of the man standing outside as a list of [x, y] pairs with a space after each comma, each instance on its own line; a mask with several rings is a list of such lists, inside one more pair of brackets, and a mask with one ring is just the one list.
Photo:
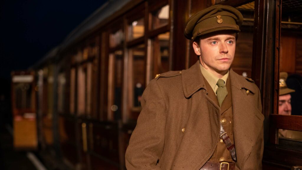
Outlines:
[[131, 135], [125, 155], [127, 170], [160, 170], [165, 140], [167, 107], [156, 80], [152, 80], [142, 96], [142, 111]]

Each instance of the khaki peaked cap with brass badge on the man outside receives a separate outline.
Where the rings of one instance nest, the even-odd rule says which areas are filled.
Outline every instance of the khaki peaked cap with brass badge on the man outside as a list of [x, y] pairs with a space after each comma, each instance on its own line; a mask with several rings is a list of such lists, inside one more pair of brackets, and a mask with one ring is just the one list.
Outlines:
[[185, 28], [185, 37], [194, 40], [196, 37], [222, 30], [239, 32], [243, 22], [242, 14], [234, 7], [213, 5], [192, 15]]

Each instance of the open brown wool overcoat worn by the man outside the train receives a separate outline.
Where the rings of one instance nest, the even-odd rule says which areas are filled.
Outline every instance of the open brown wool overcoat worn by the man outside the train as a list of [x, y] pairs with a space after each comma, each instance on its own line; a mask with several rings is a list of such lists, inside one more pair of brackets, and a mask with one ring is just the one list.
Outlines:
[[[229, 73], [236, 169], [262, 169], [259, 89], [232, 69]], [[220, 107], [207, 96], [199, 62], [152, 80], [142, 107], [126, 151], [128, 170], [199, 170], [210, 159], [219, 141]]]

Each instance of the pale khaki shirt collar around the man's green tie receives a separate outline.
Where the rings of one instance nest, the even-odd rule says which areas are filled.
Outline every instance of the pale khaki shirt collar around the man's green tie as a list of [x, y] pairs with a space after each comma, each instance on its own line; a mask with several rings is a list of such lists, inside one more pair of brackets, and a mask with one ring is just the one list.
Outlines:
[[[214, 93], [216, 94], [216, 90], [218, 88], [217, 81], [219, 80], [218, 77], [216, 77], [214, 74], [210, 73], [210, 71], [206, 70], [201, 64], [199, 64], [200, 70], [204, 78], [207, 80], [207, 82], [212, 87]], [[221, 78], [224, 81], [224, 85], [226, 85], [226, 80], [229, 77], [229, 70], [226, 72], [226, 74]]]

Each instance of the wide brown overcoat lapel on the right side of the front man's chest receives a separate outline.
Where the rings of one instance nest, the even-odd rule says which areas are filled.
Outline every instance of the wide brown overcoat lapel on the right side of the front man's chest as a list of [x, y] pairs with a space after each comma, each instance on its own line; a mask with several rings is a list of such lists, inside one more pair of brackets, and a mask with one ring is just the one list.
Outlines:
[[230, 69], [232, 102], [233, 102], [233, 133], [236, 149], [237, 165], [242, 168], [244, 162], [252, 152], [256, 139], [261, 131], [262, 113], [249, 102], [246, 89], [251, 93], [257, 92], [243, 77]]

